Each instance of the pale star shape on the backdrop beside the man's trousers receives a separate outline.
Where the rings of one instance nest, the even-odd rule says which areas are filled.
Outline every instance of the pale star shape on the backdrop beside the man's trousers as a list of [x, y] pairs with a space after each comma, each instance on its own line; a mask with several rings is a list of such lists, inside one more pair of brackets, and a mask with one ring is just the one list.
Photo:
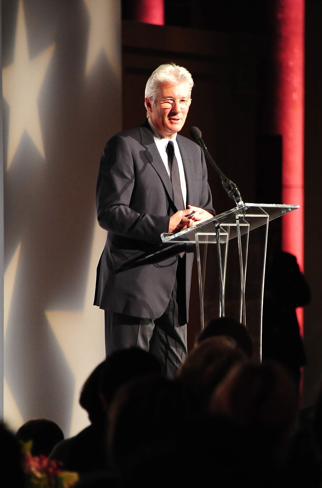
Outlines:
[[[99, 307], [93, 305], [96, 279], [93, 269], [96, 269], [105, 240], [106, 231], [96, 224], [83, 309], [45, 311], [47, 320], [75, 377], [70, 435], [76, 434], [80, 425], [88, 424], [87, 413], [79, 405], [80, 390], [89, 374], [105, 358], [104, 315]], [[89, 334], [90, 327], [100, 322], [101, 330], [96, 328]], [[91, 350], [101, 351], [100, 356], [95, 356], [94, 360], [88, 353]]]

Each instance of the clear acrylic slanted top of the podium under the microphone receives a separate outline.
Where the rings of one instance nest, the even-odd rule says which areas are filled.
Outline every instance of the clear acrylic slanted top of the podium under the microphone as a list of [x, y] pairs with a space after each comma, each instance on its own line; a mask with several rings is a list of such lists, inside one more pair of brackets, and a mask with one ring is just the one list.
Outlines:
[[[163, 233], [161, 239], [163, 243], [173, 242], [196, 242], [196, 235], [216, 235], [218, 228], [224, 229], [228, 226], [239, 224], [244, 227], [244, 231], [252, 230], [267, 222], [277, 219], [293, 210], [300, 208], [300, 205], [287, 205], [283, 203], [244, 203], [242, 208], [234, 207], [219, 215], [215, 215], [200, 224], [196, 224], [188, 229], [181, 230], [176, 234]], [[234, 234], [231, 234], [233, 237]]]

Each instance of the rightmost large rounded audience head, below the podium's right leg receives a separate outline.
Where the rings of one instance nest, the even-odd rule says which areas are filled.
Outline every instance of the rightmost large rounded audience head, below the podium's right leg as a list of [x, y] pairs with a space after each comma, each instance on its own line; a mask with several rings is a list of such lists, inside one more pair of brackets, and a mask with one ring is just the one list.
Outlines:
[[297, 386], [275, 361], [241, 362], [215, 388], [210, 411], [248, 427], [262, 445], [275, 451], [283, 447], [295, 425]]

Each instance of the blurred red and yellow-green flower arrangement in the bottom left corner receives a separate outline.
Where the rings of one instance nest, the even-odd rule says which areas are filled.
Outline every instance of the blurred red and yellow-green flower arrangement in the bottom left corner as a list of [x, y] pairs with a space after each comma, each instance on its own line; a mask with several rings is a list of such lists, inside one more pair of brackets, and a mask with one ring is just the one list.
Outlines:
[[26, 488], [69, 488], [79, 479], [73, 471], [64, 471], [56, 461], [31, 454], [32, 441], [22, 443], [23, 470]]

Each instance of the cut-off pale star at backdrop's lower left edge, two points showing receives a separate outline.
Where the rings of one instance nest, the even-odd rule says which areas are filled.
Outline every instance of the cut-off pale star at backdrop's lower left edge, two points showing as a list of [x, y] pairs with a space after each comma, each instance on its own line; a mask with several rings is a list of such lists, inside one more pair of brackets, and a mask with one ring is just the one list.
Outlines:
[[[8, 327], [9, 313], [12, 305], [12, 297], [14, 286], [16, 282], [16, 275], [20, 257], [21, 243], [18, 244], [16, 251], [4, 273], [3, 277], [3, 304], [4, 304], [4, 315], [3, 315], [3, 325], [4, 325], [4, 340], [6, 335], [6, 330]], [[3, 382], [3, 408], [6, 412], [6, 423], [10, 428], [15, 428], [17, 422], [22, 425], [23, 419], [20, 413], [20, 409], [11, 393], [11, 390], [4, 378]]]

